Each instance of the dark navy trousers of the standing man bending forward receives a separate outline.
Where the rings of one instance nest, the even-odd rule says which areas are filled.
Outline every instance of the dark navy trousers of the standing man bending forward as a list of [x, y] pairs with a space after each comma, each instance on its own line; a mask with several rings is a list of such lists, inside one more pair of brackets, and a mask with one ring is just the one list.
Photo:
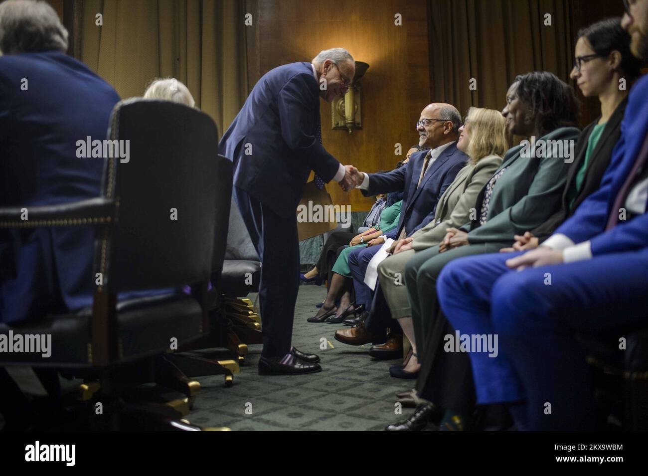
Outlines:
[[297, 215], [295, 213], [288, 218], [279, 216], [242, 188], [234, 187], [233, 192], [261, 260], [261, 355], [283, 357], [290, 351], [299, 289]]

